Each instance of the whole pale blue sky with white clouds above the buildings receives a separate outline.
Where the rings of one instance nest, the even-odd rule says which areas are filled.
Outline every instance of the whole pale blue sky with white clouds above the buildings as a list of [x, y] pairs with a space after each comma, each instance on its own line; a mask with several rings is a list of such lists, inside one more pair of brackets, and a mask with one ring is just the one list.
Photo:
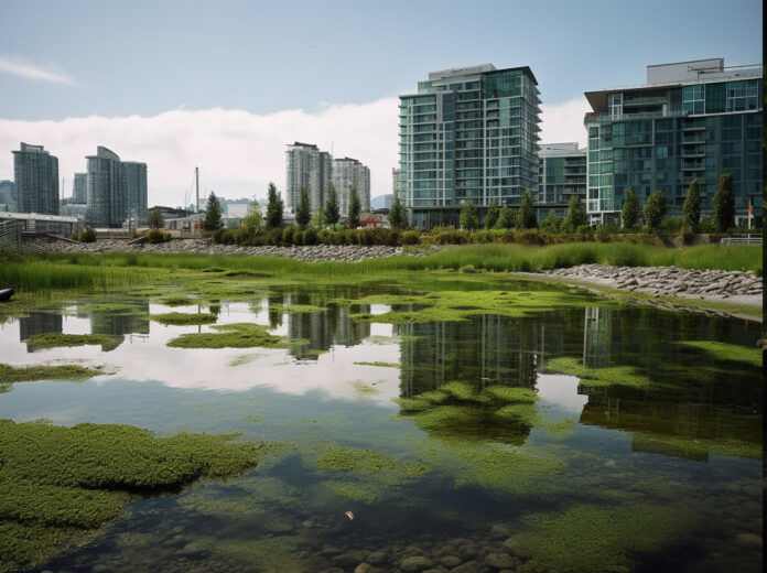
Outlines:
[[[759, 0], [0, 0], [0, 180], [45, 145], [63, 196], [105, 145], [148, 164], [149, 205], [284, 187], [288, 143], [370, 167], [391, 192], [398, 95], [430, 71], [530, 66], [541, 141], [585, 145], [584, 91], [646, 66], [761, 63]], [[202, 201], [202, 199], [201, 199]]]

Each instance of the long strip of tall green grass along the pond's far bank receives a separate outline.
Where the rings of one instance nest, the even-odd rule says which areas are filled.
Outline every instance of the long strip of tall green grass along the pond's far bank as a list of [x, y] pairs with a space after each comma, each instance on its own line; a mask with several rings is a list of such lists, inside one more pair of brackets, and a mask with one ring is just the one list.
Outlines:
[[[469, 267], [487, 271], [536, 271], [582, 263], [628, 267], [673, 264], [698, 270], [752, 270], [758, 275], [763, 272], [761, 249], [752, 246], [702, 245], [674, 249], [625, 242], [573, 242], [545, 247], [465, 245], [424, 257], [399, 256], [359, 262], [305, 262], [277, 257], [197, 253], [48, 253], [44, 257], [29, 257], [24, 262], [3, 262], [0, 266], [0, 284], [30, 290], [122, 288], [150, 282], [153, 269], [199, 272], [212, 268], [226, 269], [239, 271], [230, 272], [233, 278], [249, 277], [257, 280], [279, 274], [379, 275], [408, 270], [457, 271]], [[222, 280], [228, 278], [222, 277]]]

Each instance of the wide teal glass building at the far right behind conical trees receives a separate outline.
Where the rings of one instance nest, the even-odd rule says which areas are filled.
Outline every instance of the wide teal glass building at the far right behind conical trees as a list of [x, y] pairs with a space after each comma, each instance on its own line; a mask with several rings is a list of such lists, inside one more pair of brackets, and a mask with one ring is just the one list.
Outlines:
[[639, 204], [656, 190], [681, 216], [690, 181], [707, 215], [722, 173], [733, 176], [736, 218], [761, 214], [763, 68], [724, 58], [647, 66], [647, 84], [587, 91], [592, 223], [620, 224], [627, 187]]

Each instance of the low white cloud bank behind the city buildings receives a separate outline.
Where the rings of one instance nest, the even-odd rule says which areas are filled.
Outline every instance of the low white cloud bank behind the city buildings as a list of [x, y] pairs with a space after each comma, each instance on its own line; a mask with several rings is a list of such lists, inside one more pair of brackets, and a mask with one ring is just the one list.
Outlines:
[[[175, 109], [153, 117], [67, 118], [61, 121], [0, 119], [0, 179], [13, 179], [10, 151], [19, 142], [45, 145], [58, 156], [64, 193], [72, 194], [75, 172], [85, 172], [86, 155], [105, 145], [126, 161], [148, 165], [149, 204], [180, 206], [192, 201], [195, 165], [201, 197], [215, 191], [226, 198], [266, 197], [273, 181], [284, 188], [285, 145], [315, 143], [335, 156], [348, 155], [370, 167], [371, 196], [391, 193], [391, 169], [398, 164], [398, 99], [361, 105], [331, 105], [315, 113], [303, 110], [259, 116], [241, 110]], [[543, 142], [585, 144], [584, 98], [541, 106]], [[201, 199], [202, 201], [202, 199]]]

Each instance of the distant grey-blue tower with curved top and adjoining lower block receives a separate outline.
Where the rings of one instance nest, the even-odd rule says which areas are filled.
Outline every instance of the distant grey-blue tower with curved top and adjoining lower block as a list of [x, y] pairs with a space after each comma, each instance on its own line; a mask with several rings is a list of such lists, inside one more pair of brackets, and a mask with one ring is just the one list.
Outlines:
[[88, 155], [86, 220], [93, 227], [121, 227], [147, 218], [147, 164], [120, 161], [99, 145]]

